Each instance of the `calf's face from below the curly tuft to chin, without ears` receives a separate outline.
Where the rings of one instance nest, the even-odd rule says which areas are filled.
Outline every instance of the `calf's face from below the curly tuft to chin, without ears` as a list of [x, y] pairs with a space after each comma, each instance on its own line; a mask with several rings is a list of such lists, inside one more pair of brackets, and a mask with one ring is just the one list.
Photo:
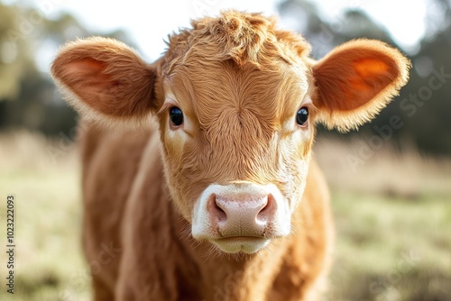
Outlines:
[[290, 233], [314, 132], [309, 73], [301, 60], [259, 69], [187, 58], [165, 80], [166, 173], [194, 238], [254, 252]]

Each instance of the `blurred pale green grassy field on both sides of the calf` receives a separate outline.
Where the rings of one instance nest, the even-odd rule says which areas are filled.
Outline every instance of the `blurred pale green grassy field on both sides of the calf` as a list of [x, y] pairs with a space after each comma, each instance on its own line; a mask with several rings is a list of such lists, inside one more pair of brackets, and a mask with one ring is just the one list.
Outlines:
[[[336, 221], [325, 299], [451, 300], [451, 160], [385, 148], [353, 169], [347, 157], [356, 145], [316, 145]], [[5, 294], [2, 251], [0, 300], [89, 300], [79, 181], [75, 146], [26, 132], [0, 135], [0, 197], [16, 197], [15, 294]], [[5, 200], [0, 216], [5, 227]]]

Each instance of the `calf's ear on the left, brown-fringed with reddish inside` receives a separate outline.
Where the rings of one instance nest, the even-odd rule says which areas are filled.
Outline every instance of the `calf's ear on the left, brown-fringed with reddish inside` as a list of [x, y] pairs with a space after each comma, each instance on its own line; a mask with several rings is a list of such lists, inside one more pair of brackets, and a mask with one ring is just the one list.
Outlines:
[[119, 41], [94, 37], [67, 43], [51, 76], [69, 103], [93, 119], [139, 120], [155, 106], [155, 67]]

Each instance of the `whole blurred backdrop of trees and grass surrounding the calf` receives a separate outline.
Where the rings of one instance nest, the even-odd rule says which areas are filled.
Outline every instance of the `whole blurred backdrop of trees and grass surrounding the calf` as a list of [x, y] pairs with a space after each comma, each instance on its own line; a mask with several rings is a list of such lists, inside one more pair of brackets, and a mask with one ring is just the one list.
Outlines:
[[[16, 293], [5, 294], [2, 280], [1, 300], [90, 296], [80, 245], [78, 117], [55, 89], [47, 62], [60, 44], [90, 35], [143, 52], [126, 29], [96, 31], [69, 10], [42, 10], [61, 3], [0, 1], [0, 197], [17, 198]], [[222, 2], [188, 3], [208, 13]], [[315, 152], [331, 187], [337, 227], [325, 299], [451, 300], [451, 1], [424, 0], [424, 19], [416, 22], [425, 30], [409, 47], [368, 14], [365, 1], [344, 2], [334, 17], [324, 14], [324, 1], [264, 3], [310, 41], [316, 59], [344, 41], [371, 38], [400, 48], [413, 64], [408, 85], [372, 123], [359, 132], [318, 133]], [[404, 4], [399, 23], [410, 32], [412, 3]], [[124, 14], [136, 9], [124, 8]], [[399, 129], [389, 126], [393, 116], [402, 121]], [[0, 210], [4, 227], [3, 200]], [[6, 244], [3, 230], [0, 242]], [[4, 258], [2, 251], [2, 279]]]

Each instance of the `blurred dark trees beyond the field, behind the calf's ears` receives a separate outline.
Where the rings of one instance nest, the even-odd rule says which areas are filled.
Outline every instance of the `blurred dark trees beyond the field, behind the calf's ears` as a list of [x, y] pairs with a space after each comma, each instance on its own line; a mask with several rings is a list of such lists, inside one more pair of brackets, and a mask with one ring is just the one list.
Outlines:
[[[434, 3], [419, 49], [406, 53], [412, 61], [410, 81], [378, 118], [360, 130], [369, 137], [366, 143], [373, 139], [373, 143], [390, 142], [400, 148], [409, 144], [423, 152], [451, 156], [451, 5], [448, 0]], [[344, 41], [363, 37], [400, 48], [390, 32], [359, 9], [349, 9], [334, 21], [321, 18], [318, 7], [306, 0], [281, 2], [279, 11], [282, 20], [294, 20], [312, 44], [316, 59]], [[1, 131], [25, 128], [55, 136], [74, 128], [76, 113], [61, 100], [39, 59], [56, 53], [65, 41], [91, 35], [113, 37], [136, 48], [123, 31], [92, 32], [70, 14], [51, 20], [37, 9], [0, 3]], [[391, 126], [394, 118], [399, 119], [396, 127]], [[354, 135], [342, 137], [353, 139]]]

